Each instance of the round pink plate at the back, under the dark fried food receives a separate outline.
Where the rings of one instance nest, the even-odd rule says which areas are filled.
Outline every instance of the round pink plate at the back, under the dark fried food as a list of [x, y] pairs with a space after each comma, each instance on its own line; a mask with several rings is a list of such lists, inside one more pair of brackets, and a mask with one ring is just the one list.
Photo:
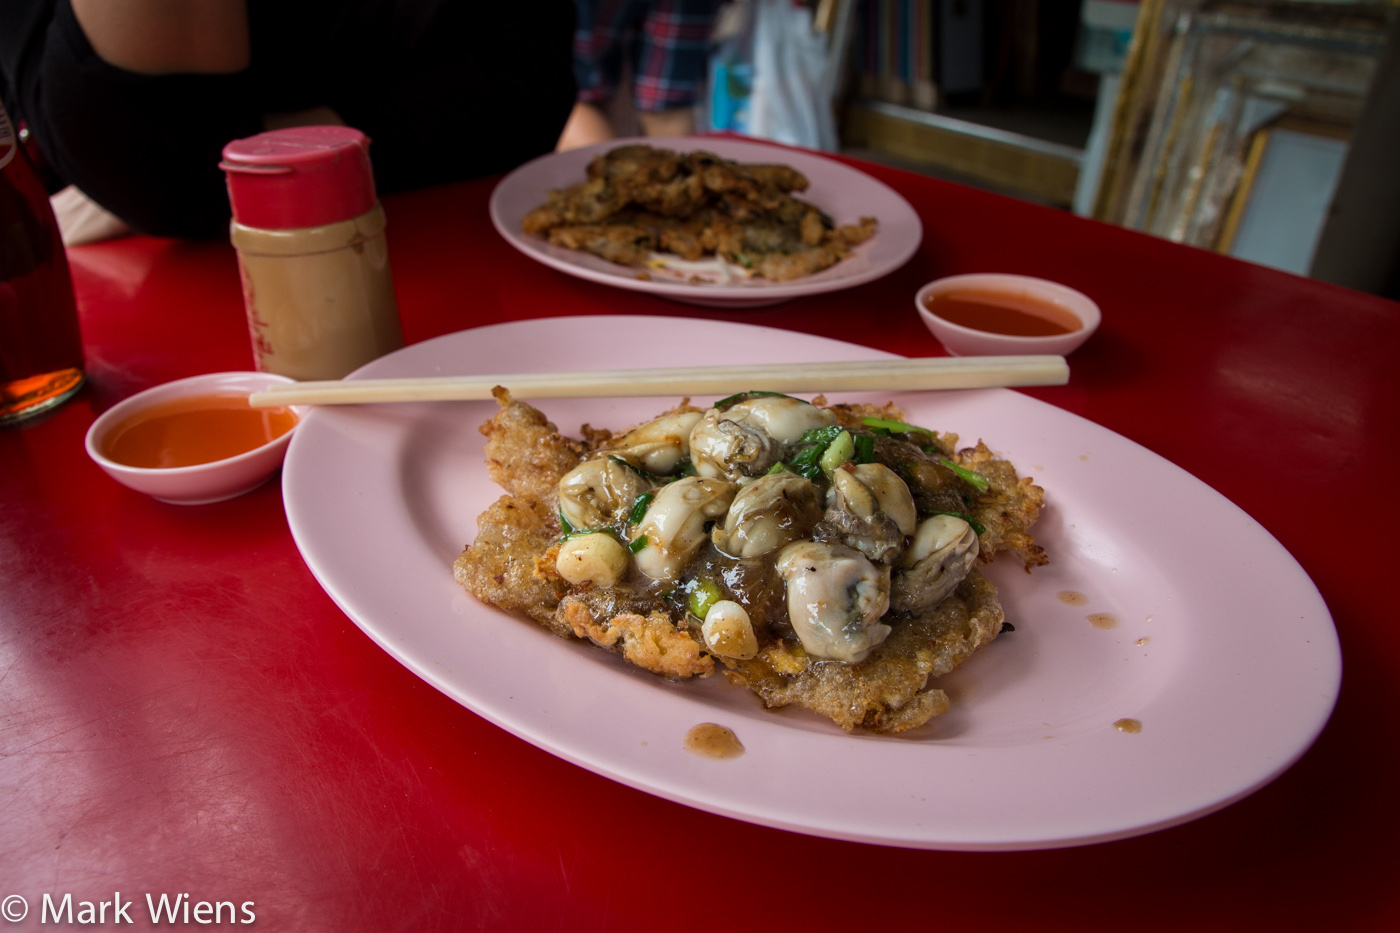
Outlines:
[[[588, 165], [624, 146], [650, 146], [675, 153], [706, 151], [741, 164], [781, 165], [799, 172], [806, 188], [791, 195], [816, 207], [837, 227], [875, 221], [872, 237], [854, 245], [834, 265], [812, 275], [774, 282], [735, 263], [706, 259], [686, 265], [672, 259], [652, 265], [622, 265], [526, 233], [526, 214], [552, 192], [587, 179]], [[491, 193], [491, 223], [517, 249], [560, 272], [633, 291], [647, 291], [687, 304], [749, 308], [778, 304], [872, 282], [904, 265], [923, 240], [918, 214], [899, 193], [850, 165], [813, 153], [732, 139], [612, 140], [598, 146], [542, 156], [501, 179]]]

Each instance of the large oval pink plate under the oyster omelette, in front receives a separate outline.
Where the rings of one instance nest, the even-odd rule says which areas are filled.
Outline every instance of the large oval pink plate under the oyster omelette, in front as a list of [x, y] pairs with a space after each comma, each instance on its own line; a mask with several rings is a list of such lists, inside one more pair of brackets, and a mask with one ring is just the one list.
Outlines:
[[[883, 356], [769, 328], [603, 317], [463, 331], [357, 375], [582, 370], [678, 353]], [[932, 849], [1068, 846], [1218, 810], [1309, 747], [1337, 696], [1337, 636], [1312, 581], [1264, 528], [1148, 450], [1019, 392], [893, 399], [916, 423], [986, 438], [1044, 486], [1037, 535], [1053, 560], [1032, 574], [993, 566], [1015, 632], [944, 678], [951, 713], [900, 737], [767, 713], [722, 677], [668, 684], [461, 591], [452, 560], [500, 495], [476, 430], [494, 403], [314, 410], [287, 454], [287, 516], [326, 593], [428, 684], [582, 768], [757, 824]], [[577, 431], [624, 427], [675, 402], [540, 408]], [[1128, 719], [1141, 731], [1114, 726]], [[707, 721], [731, 727], [748, 752], [687, 754], [686, 731]]]

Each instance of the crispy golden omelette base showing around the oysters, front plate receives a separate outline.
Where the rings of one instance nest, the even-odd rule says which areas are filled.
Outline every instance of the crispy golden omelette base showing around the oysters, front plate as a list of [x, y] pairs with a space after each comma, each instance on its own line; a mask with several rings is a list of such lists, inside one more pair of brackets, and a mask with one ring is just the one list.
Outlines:
[[[570, 586], [554, 572], [560, 538], [556, 488], [589, 448], [606, 448], [610, 431], [584, 426], [587, 441], [559, 434], [542, 413], [498, 389], [501, 410], [482, 427], [491, 478], [503, 496], [477, 523], [477, 538], [454, 565], [461, 586], [510, 612], [524, 614], [563, 637], [584, 637], [644, 670], [671, 679], [707, 677], [714, 658], [683, 609], [644, 591], [619, 593], [591, 584]], [[825, 399], [813, 399], [825, 406]], [[673, 410], [694, 410], [687, 403]], [[829, 406], [837, 422], [854, 427], [862, 417], [903, 420], [896, 406]], [[974, 466], [990, 482], [970, 507], [984, 525], [980, 560], [1015, 551], [1026, 570], [1047, 562], [1029, 535], [1043, 490], [998, 459], [986, 444], [955, 450], [958, 437], [935, 434], [934, 454]], [[910, 457], [896, 451], [895, 457]], [[721, 658], [725, 677], [750, 689], [764, 706], [801, 706], [844, 730], [899, 733], [946, 712], [946, 695], [931, 678], [952, 671], [1001, 630], [995, 587], [973, 570], [931, 611], [892, 612], [890, 636], [855, 664], [811, 657], [791, 629], [764, 630], [752, 660]]]

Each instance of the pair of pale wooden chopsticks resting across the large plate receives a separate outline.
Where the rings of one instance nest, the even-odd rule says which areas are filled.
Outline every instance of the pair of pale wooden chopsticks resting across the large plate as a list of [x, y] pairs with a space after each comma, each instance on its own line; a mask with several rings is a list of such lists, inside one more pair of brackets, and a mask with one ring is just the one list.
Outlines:
[[952, 356], [834, 363], [694, 366], [592, 373], [500, 373], [398, 380], [335, 380], [269, 385], [253, 392], [253, 408], [280, 405], [367, 405], [372, 402], [451, 402], [491, 398], [504, 385], [515, 398], [638, 395], [731, 395], [770, 392], [899, 392], [1009, 385], [1064, 385], [1063, 356]]

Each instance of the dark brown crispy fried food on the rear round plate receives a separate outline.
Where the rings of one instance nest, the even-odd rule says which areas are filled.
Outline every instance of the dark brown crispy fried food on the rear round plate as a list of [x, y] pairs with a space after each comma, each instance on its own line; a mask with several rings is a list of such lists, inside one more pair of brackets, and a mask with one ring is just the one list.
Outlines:
[[594, 158], [587, 175], [525, 214], [525, 233], [624, 266], [662, 268], [658, 254], [721, 256], [784, 282], [840, 262], [876, 227], [872, 217], [836, 226], [794, 198], [808, 181], [787, 165], [631, 144]]

